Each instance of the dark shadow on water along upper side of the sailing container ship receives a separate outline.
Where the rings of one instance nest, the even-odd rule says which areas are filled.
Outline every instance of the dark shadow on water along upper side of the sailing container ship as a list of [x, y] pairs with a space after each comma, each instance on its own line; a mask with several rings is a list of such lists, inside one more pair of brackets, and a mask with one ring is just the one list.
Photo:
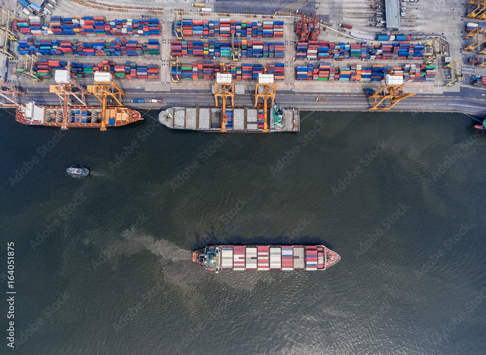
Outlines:
[[333, 246], [326, 243], [321, 238], [313, 236], [299, 236], [297, 238], [289, 238], [288, 236], [279, 236], [268, 238], [263, 235], [254, 236], [251, 240], [241, 236], [233, 236], [229, 238], [216, 238], [214, 235], [206, 234], [201, 237], [199, 233], [195, 233], [197, 243], [192, 245], [191, 251], [205, 248], [210, 245], [323, 245], [331, 250]]

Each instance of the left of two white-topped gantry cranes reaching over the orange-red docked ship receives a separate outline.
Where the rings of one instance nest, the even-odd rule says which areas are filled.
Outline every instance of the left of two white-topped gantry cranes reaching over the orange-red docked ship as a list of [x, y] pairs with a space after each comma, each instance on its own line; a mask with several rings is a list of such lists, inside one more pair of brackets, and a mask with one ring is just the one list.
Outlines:
[[[87, 106], [85, 95], [87, 91], [81, 85], [71, 79], [71, 63], [68, 62], [66, 70], [56, 70], [54, 79], [57, 85], [50, 85], [49, 92], [55, 93], [59, 97], [62, 106], [62, 125], [61, 129], [68, 129], [68, 107], [71, 105], [69, 97], [73, 96], [81, 104]], [[77, 91], [75, 91], [77, 89]]]

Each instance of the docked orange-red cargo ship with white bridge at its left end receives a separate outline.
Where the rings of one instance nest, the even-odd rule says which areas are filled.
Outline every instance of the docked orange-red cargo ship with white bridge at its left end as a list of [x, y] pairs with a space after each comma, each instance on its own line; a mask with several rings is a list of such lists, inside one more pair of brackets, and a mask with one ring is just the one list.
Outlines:
[[[37, 124], [61, 127], [63, 110], [61, 106], [39, 106], [30, 101], [17, 106], [15, 120], [22, 124]], [[143, 120], [140, 112], [128, 107], [106, 107], [105, 126], [120, 126]], [[73, 105], [68, 108], [67, 127], [102, 127], [100, 107]]]

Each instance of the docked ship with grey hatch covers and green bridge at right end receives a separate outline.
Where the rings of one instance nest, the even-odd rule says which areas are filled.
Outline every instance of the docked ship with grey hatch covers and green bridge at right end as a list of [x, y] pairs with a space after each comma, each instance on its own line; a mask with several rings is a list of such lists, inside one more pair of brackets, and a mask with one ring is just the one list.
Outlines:
[[[275, 104], [268, 109], [269, 132], [298, 132], [300, 111]], [[263, 132], [263, 109], [226, 108], [226, 132]], [[161, 124], [174, 129], [221, 132], [221, 108], [171, 107], [158, 115]]]

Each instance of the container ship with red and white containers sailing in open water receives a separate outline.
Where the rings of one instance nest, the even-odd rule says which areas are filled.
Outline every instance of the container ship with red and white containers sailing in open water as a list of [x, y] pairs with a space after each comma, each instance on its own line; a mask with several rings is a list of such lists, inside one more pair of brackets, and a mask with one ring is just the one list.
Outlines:
[[207, 270], [325, 270], [341, 257], [323, 245], [213, 245], [192, 253]]

